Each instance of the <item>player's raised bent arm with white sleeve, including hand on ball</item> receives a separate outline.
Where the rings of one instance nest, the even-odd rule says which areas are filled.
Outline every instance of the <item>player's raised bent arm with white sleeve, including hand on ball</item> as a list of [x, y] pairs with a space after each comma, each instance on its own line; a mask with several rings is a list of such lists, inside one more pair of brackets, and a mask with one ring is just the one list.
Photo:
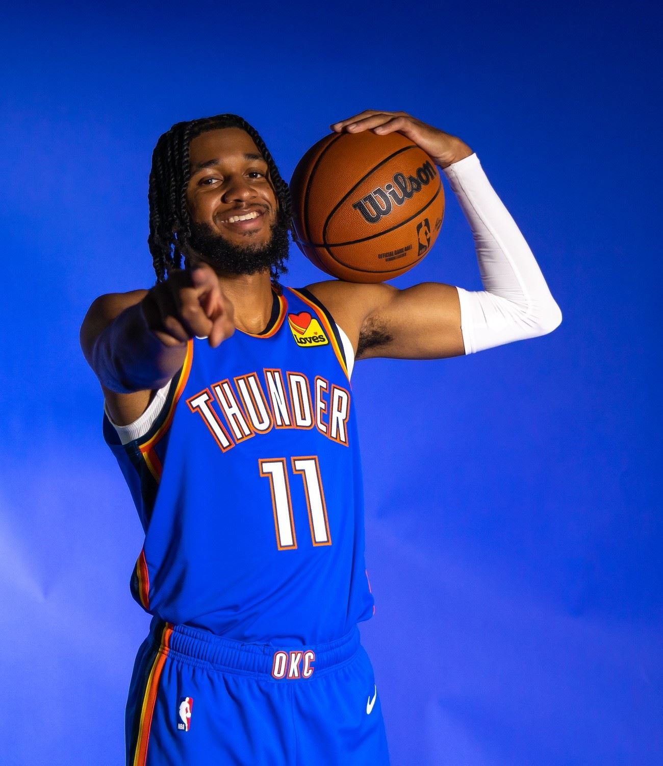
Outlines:
[[[358, 328], [357, 358], [462, 355], [541, 336], [560, 324], [560, 309], [530, 247], [465, 142], [402, 112], [371, 110], [332, 129], [372, 129], [378, 135], [398, 130], [435, 160], [472, 229], [485, 288], [469, 292], [421, 283], [398, 290], [387, 284], [346, 283], [345, 313]], [[323, 302], [324, 286], [331, 284], [315, 286]]]

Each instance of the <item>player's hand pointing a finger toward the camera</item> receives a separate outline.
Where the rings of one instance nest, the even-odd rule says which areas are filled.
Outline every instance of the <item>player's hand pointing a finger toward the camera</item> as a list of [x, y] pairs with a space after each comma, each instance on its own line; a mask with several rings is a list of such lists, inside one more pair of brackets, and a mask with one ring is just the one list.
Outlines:
[[235, 331], [233, 304], [207, 264], [171, 272], [143, 298], [142, 310], [149, 329], [167, 346], [198, 336], [216, 348]]

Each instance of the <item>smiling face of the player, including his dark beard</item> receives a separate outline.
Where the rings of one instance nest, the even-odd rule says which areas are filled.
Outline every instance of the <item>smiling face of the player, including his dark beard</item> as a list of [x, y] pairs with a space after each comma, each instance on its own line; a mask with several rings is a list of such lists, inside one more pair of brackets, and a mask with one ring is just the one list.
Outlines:
[[287, 255], [267, 163], [248, 133], [201, 133], [191, 141], [189, 160], [191, 246], [202, 260], [220, 271], [251, 274], [269, 268], [284, 249]]

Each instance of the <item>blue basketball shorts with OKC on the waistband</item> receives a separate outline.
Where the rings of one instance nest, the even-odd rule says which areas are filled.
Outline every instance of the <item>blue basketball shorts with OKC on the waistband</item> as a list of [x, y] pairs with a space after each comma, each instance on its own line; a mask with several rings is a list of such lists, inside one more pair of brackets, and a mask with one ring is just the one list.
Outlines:
[[312, 647], [241, 643], [154, 618], [126, 705], [127, 766], [385, 766], [359, 631]]

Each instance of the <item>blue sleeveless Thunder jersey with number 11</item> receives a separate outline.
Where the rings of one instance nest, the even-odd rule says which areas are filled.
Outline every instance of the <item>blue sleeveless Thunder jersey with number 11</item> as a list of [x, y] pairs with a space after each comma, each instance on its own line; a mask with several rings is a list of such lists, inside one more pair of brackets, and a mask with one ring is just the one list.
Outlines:
[[132, 594], [172, 624], [257, 643], [324, 643], [373, 613], [354, 402], [338, 328], [273, 290], [259, 335], [185, 364], [148, 434], [104, 418], [145, 530]]

